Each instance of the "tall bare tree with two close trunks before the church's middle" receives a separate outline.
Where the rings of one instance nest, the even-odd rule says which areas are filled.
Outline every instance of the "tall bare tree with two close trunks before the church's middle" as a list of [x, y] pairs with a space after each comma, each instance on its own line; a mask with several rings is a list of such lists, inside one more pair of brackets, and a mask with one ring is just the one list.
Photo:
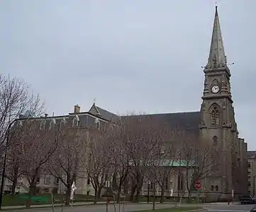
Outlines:
[[163, 151], [167, 151], [165, 142], [169, 139], [170, 131], [167, 124], [155, 116], [144, 114], [128, 120], [133, 126], [133, 145], [129, 149], [130, 165], [133, 167], [130, 172], [133, 182], [130, 201], [133, 201], [136, 192], [135, 200], [138, 202], [148, 168], [155, 164]]

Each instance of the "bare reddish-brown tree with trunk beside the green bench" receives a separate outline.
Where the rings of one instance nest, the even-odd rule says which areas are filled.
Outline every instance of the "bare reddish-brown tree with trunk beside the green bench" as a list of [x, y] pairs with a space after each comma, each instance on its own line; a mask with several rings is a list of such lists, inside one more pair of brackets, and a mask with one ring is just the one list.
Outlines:
[[[44, 118], [43, 118], [44, 119]], [[43, 173], [50, 156], [56, 151], [61, 136], [58, 127], [51, 129], [47, 125], [40, 128], [41, 119], [30, 119], [23, 127], [21, 139], [16, 142], [21, 163], [21, 175], [26, 176], [29, 184], [29, 199], [26, 208], [30, 207], [30, 196], [36, 193], [37, 179]]]

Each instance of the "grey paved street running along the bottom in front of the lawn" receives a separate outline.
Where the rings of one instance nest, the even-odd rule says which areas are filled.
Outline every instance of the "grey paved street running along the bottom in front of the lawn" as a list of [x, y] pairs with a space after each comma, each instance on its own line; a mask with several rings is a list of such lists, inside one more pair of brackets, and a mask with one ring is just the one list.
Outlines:
[[[174, 204], [156, 204], [155, 208], [170, 208], [174, 206]], [[205, 208], [208, 211], [212, 212], [249, 212], [253, 205], [240, 205], [238, 203], [230, 204], [227, 203], [216, 203], [216, 204], [201, 204], [201, 205], [192, 205], [192, 204], [182, 204], [182, 206], [201, 206], [202, 208]], [[140, 210], [147, 210], [151, 209], [152, 204], [125, 204], [124, 211], [140, 211]], [[19, 211], [19, 210], [13, 210], [13, 211]], [[22, 210], [26, 211], [26, 210]], [[30, 209], [30, 212], [52, 212], [52, 208], [34, 208]], [[75, 206], [73, 208], [55, 208], [55, 212], [105, 212], [106, 206]], [[108, 206], [108, 212], [114, 212], [114, 206], [110, 205]], [[116, 211], [119, 212], [119, 206], [116, 205]], [[120, 212], [123, 212], [123, 204], [121, 204]]]

